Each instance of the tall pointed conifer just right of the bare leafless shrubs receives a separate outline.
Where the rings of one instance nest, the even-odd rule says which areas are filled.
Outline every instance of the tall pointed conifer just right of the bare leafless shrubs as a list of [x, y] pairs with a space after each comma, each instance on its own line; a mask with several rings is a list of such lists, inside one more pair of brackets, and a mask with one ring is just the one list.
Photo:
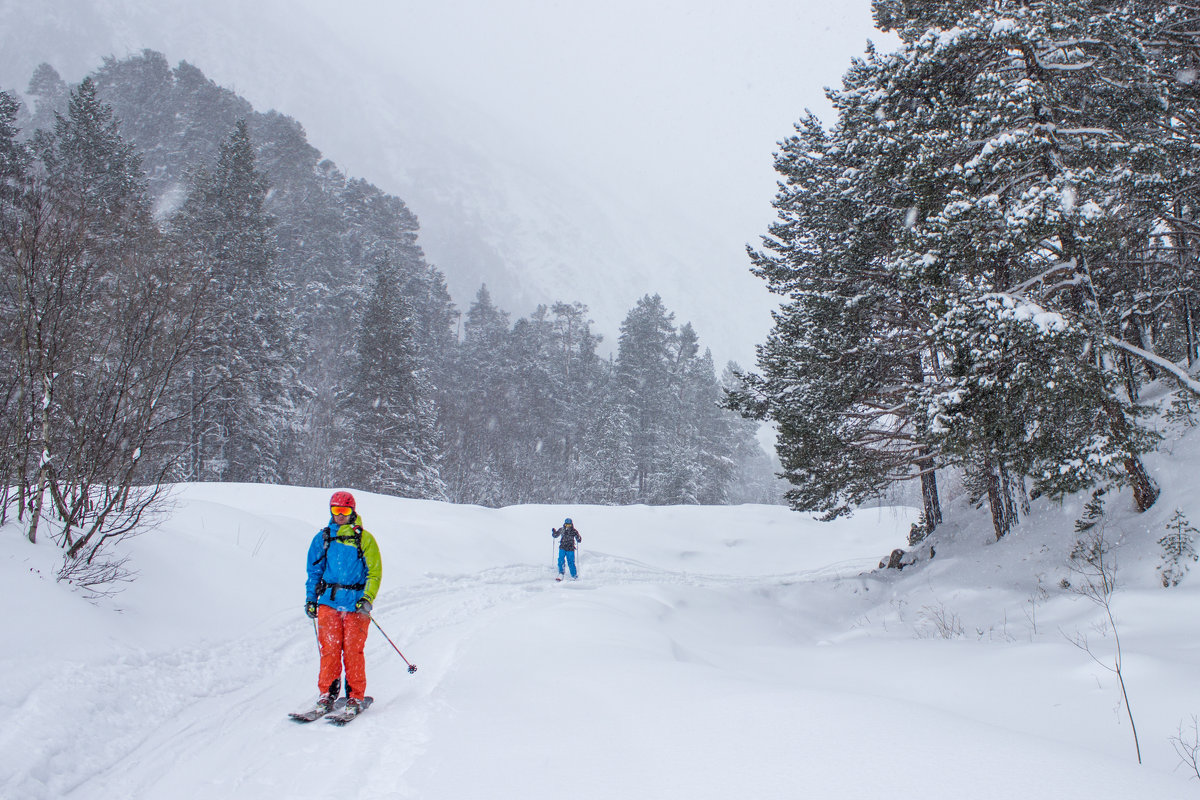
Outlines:
[[172, 219], [199, 259], [206, 299], [200, 347], [188, 365], [191, 480], [276, 480], [280, 445], [296, 422], [293, 343], [300, 336], [283, 313], [266, 192], [239, 121], [212, 169], [193, 174]]

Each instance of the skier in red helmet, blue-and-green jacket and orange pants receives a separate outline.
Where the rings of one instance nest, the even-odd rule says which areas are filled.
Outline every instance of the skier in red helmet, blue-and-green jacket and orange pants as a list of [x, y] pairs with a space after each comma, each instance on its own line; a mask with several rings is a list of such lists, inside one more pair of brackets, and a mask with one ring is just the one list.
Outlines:
[[334, 708], [344, 664], [349, 698], [346, 708], [356, 711], [366, 694], [362, 649], [371, 626], [371, 607], [383, 577], [383, 560], [374, 536], [362, 529], [354, 495], [334, 492], [329, 506], [329, 524], [317, 531], [308, 546], [308, 582], [305, 585], [304, 609], [317, 620], [320, 644], [317, 708]]

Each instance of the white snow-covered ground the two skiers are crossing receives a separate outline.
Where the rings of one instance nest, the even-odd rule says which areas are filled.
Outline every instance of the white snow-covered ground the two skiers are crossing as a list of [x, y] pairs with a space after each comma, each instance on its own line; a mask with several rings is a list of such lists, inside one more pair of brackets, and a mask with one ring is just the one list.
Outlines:
[[[880, 572], [910, 509], [359, 493], [376, 619], [419, 670], [372, 628], [376, 704], [335, 728], [286, 717], [316, 696], [304, 561], [329, 489], [193, 485], [126, 543], [139, 576], [113, 597], [55, 583], [53, 545], [0, 530], [0, 796], [1195, 796], [1170, 739], [1200, 714], [1200, 575], [1166, 590], [1154, 570], [1175, 509], [1200, 523], [1193, 439], [1152, 461], [1148, 513], [1109, 500], [1144, 765], [1103, 610], [1061, 585], [1078, 505], [1034, 504], [1000, 543], [986, 519], [947, 525], [932, 561]], [[581, 579], [558, 584], [564, 516]]]

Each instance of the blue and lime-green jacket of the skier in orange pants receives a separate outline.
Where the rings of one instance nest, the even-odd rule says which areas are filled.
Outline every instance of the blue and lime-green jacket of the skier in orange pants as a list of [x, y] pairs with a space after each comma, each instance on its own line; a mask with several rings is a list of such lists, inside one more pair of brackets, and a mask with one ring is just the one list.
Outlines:
[[305, 597], [337, 610], [354, 610], [360, 597], [374, 602], [383, 578], [383, 560], [374, 536], [362, 529], [356, 513], [350, 522], [329, 524], [308, 546], [308, 582]]

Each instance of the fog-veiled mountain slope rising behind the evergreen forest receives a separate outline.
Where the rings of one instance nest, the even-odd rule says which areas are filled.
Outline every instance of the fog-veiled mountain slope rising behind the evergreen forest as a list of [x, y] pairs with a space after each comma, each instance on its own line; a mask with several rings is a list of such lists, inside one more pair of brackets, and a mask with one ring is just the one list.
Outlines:
[[158, 50], [256, 109], [295, 119], [308, 143], [347, 175], [402, 198], [420, 221], [419, 245], [461, 311], [485, 283], [514, 317], [538, 303], [577, 300], [589, 307], [607, 353], [637, 299], [658, 293], [677, 321], [694, 323], [718, 365], [752, 361], [752, 343], [769, 323], [768, 295], [744, 255], [722, 265], [743, 278], [737, 290], [728, 281], [697, 279], [712, 267], [689, 254], [720, 253], [715, 230], [649, 218], [592, 176], [572, 173], [565, 156], [532, 152], [529, 143], [506, 139], [494, 120], [422, 90], [419, 76], [365, 64], [353, 42], [325, 36], [311, 4], [288, 10], [230, 0], [203, 11], [175, 1], [151, 8], [142, 0], [0, 0], [0, 86], [23, 95], [42, 62], [74, 84], [104, 56]]

